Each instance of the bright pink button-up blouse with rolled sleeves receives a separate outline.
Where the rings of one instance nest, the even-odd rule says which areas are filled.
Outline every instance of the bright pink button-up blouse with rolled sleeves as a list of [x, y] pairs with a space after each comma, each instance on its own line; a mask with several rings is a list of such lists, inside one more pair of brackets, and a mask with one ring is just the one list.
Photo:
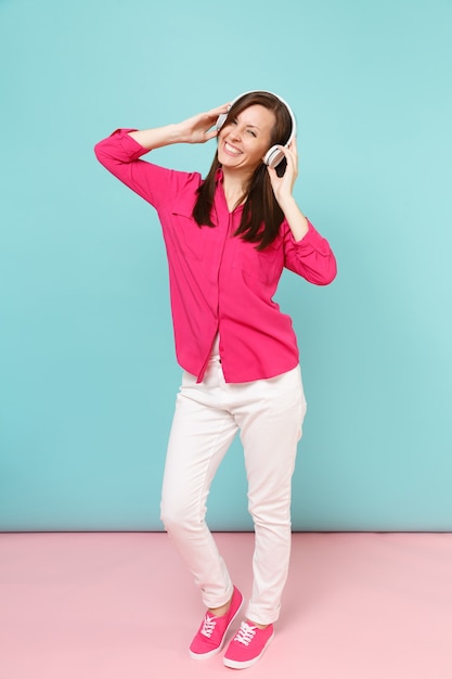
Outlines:
[[234, 236], [242, 207], [229, 212], [221, 181], [214, 203], [215, 228], [192, 217], [198, 172], [182, 172], [141, 161], [147, 150], [121, 129], [95, 145], [100, 163], [155, 207], [169, 266], [171, 312], [178, 362], [202, 382], [214, 340], [227, 382], [273, 377], [299, 361], [290, 318], [272, 297], [283, 268], [310, 283], [326, 285], [336, 276], [327, 241], [309, 222], [295, 241], [284, 220], [276, 240], [258, 252]]

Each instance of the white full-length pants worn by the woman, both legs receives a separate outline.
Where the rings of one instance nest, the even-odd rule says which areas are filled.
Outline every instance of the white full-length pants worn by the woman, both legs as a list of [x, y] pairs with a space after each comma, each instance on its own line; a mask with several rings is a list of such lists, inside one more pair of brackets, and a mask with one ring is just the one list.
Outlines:
[[240, 430], [255, 525], [254, 584], [246, 616], [268, 625], [279, 617], [290, 554], [290, 490], [306, 413], [299, 367], [270, 380], [224, 382], [211, 357], [204, 381], [184, 372], [169, 437], [162, 521], [209, 608], [223, 605], [233, 585], [206, 522], [215, 473]]

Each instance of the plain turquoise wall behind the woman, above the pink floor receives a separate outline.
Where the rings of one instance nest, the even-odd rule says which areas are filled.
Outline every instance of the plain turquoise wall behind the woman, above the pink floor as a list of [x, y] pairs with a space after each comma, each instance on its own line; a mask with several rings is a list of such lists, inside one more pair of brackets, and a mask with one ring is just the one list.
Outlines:
[[[164, 246], [92, 146], [249, 89], [290, 102], [296, 196], [339, 265], [277, 294], [309, 403], [294, 528], [452, 529], [451, 35], [449, 0], [0, 0], [0, 529], [162, 529]], [[238, 444], [208, 516], [250, 528]]]

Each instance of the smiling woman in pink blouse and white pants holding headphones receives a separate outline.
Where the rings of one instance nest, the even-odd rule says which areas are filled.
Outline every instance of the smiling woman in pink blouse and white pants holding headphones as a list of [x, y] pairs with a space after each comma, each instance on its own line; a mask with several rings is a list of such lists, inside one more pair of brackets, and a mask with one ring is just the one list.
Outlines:
[[[159, 146], [214, 138], [217, 153], [205, 180], [140, 159]], [[272, 640], [280, 613], [290, 551], [290, 479], [306, 412], [292, 321], [272, 296], [284, 267], [318, 285], [336, 276], [327, 241], [293, 196], [295, 118], [277, 95], [247, 92], [179, 124], [116, 130], [95, 152], [157, 209], [163, 227], [183, 376], [162, 520], [207, 606], [190, 646], [194, 658], [221, 651], [244, 601], [205, 522], [210, 484], [240, 431], [255, 526], [254, 584], [223, 662], [249, 667]]]

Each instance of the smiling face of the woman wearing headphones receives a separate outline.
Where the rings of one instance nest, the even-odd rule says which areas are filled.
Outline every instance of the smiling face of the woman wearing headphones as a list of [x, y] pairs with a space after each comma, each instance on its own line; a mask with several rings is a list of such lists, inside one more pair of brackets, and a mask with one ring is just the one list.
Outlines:
[[260, 104], [229, 119], [218, 134], [218, 161], [223, 168], [254, 172], [270, 149], [274, 124], [274, 113]]

